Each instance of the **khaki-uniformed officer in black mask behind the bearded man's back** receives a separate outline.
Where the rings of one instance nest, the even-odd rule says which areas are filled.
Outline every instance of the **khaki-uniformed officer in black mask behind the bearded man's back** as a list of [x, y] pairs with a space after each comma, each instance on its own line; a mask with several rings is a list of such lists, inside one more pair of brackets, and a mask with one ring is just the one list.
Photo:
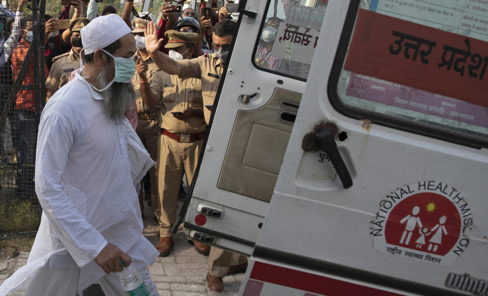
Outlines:
[[63, 85], [68, 83], [71, 72], [80, 67], [79, 53], [83, 48], [81, 44], [80, 31], [90, 20], [86, 17], [79, 17], [71, 21], [71, 44], [69, 52], [54, 57], [51, 71], [46, 79], [46, 102]]

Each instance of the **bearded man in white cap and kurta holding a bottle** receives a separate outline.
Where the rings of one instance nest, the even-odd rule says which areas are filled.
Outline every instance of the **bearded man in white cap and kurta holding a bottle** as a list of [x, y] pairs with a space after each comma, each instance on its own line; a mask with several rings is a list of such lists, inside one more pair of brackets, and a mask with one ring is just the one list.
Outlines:
[[[84, 67], [41, 115], [36, 193], [43, 213], [36, 241], [0, 295], [18, 288], [26, 296], [81, 295], [91, 284], [124, 295], [121, 260], [159, 295], [147, 271], [159, 253], [142, 236], [134, 189], [154, 162], [147, 152], [134, 158], [134, 139], [140, 141], [124, 117], [134, 100], [135, 40], [114, 14], [95, 18], [81, 36]], [[134, 180], [134, 167], [141, 166]]]

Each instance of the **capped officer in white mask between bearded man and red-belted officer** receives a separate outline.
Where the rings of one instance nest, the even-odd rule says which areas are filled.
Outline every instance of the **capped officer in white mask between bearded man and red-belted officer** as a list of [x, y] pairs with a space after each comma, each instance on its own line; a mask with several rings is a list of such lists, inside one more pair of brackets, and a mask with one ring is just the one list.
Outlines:
[[[135, 45], [137, 52], [134, 56], [136, 63], [136, 71], [132, 77], [132, 85], [136, 95], [137, 105], [137, 127], [135, 132], [139, 136], [142, 144], [148, 151], [149, 155], [154, 161], [158, 159], [158, 138], [159, 138], [159, 113], [161, 112], [160, 104], [154, 107], [149, 107], [142, 101], [140, 95], [141, 84], [150, 84], [154, 73], [158, 71], [158, 67], [154, 64], [146, 50], [144, 41], [144, 29], [148, 26], [148, 21], [142, 18], [134, 18], [132, 20], [132, 34], [134, 34]], [[159, 221], [159, 193], [158, 193], [158, 177], [157, 169], [154, 165], [149, 169], [149, 179], [151, 184], [151, 211], [156, 220]], [[141, 181], [141, 190], [139, 191], [140, 210], [143, 211], [142, 195], [143, 186]]]

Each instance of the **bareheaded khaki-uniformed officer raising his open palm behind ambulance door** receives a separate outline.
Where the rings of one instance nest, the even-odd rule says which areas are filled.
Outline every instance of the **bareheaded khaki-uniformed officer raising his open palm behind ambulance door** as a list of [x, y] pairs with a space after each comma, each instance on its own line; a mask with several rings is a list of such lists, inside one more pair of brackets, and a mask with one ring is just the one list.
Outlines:
[[[159, 69], [181, 78], [194, 77], [202, 80], [202, 95], [204, 105], [212, 105], [217, 93], [220, 77], [223, 73], [224, 63], [227, 60], [236, 23], [231, 20], [218, 22], [212, 34], [213, 54], [206, 54], [175, 62], [166, 54], [158, 51], [162, 40], [158, 41], [156, 25], [149, 23], [146, 36], [146, 48]], [[210, 120], [210, 110], [204, 108], [205, 121]], [[212, 247], [209, 256], [209, 272], [207, 274], [209, 288], [218, 292], [223, 291], [222, 278], [229, 273], [244, 271], [247, 268], [247, 258], [231, 252]]]

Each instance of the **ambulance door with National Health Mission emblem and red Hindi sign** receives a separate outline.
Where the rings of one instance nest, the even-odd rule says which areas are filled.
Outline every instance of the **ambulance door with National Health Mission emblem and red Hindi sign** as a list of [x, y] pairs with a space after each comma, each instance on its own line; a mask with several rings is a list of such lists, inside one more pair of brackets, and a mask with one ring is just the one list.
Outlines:
[[329, 0], [241, 295], [488, 294], [487, 10]]

